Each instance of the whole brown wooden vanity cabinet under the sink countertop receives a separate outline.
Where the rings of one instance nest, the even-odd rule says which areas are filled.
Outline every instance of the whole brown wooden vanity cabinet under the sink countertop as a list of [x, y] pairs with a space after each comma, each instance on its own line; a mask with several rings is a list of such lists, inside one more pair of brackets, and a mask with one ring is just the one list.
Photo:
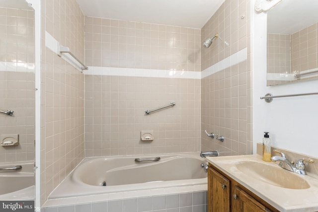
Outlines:
[[209, 163], [208, 212], [279, 212]]

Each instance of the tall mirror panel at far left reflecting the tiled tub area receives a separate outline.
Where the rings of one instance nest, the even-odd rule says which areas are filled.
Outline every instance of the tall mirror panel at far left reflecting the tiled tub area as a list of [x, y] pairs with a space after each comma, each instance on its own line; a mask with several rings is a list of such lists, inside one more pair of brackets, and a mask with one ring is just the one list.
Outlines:
[[[0, 168], [15, 167], [0, 171], [0, 200], [32, 201], [35, 197], [33, 8], [24, 0], [0, 0], [0, 29], [0, 111], [13, 111], [12, 115], [0, 112]], [[19, 180], [15, 178], [17, 174]]]

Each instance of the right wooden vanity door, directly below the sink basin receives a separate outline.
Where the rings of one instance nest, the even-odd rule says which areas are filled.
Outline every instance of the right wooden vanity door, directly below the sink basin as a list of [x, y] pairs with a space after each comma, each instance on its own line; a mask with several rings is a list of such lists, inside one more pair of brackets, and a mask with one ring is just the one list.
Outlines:
[[232, 193], [232, 212], [270, 212], [238, 186], [235, 186]]

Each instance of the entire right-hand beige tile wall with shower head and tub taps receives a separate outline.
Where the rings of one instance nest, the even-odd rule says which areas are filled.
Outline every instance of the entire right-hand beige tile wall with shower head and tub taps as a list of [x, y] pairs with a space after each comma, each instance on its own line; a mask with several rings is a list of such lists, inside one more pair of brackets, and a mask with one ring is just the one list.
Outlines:
[[[252, 153], [252, 71], [249, 49], [249, 1], [225, 0], [202, 28], [202, 40], [219, 38], [210, 48], [202, 48], [202, 71], [224, 63], [201, 81], [202, 150], [218, 150], [221, 155]], [[247, 60], [233, 63], [233, 56], [246, 49]], [[229, 61], [229, 57], [231, 60]], [[232, 66], [227, 63], [231, 62]], [[215, 133], [224, 142], [206, 136]]]

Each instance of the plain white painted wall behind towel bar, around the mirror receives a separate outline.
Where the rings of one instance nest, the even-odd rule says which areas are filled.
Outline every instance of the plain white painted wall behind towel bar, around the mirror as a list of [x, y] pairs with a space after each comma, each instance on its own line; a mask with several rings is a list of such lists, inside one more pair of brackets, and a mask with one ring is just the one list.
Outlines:
[[318, 156], [318, 95], [260, 99], [273, 95], [318, 92], [318, 80], [266, 86], [266, 13], [253, 14], [253, 148], [270, 132], [272, 145], [303, 154]]

